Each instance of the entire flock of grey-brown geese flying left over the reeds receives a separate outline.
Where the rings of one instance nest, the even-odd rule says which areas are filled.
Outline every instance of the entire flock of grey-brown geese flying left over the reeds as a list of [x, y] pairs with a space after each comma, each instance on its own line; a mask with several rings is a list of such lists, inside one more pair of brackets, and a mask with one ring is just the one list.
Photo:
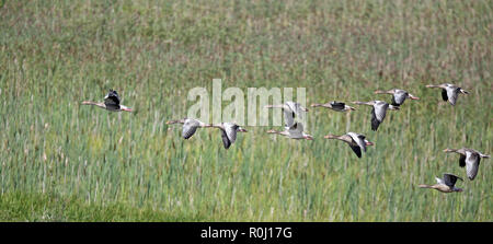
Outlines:
[[[450, 84], [428, 84], [426, 88], [439, 88], [442, 89], [442, 98], [444, 101], [448, 101], [451, 105], [456, 105], [457, 98], [459, 94], [469, 94], [469, 92], [462, 90], [461, 88]], [[383, 119], [387, 115], [387, 111], [399, 111], [400, 106], [404, 103], [406, 98], [410, 100], [420, 100], [417, 96], [412, 95], [405, 90], [392, 89], [388, 91], [375, 91], [375, 94], [391, 94], [392, 100], [391, 103], [387, 103], [385, 101], [369, 101], [369, 102], [353, 102], [353, 104], [357, 105], [368, 105], [371, 106], [371, 130], [377, 131], [380, 124], [383, 123]], [[104, 97], [103, 103], [84, 101], [82, 105], [94, 105], [111, 112], [133, 112], [131, 108], [124, 106], [121, 104], [119, 95], [116, 91], [110, 90], [110, 92]], [[278, 105], [266, 105], [266, 108], [280, 108], [283, 109], [284, 120], [285, 120], [285, 130], [267, 130], [267, 133], [282, 135], [290, 139], [297, 140], [313, 140], [313, 136], [308, 135], [303, 131], [303, 125], [301, 121], [298, 121], [298, 118], [302, 118], [305, 113], [308, 112], [308, 108], [303, 107], [299, 103], [295, 102], [286, 102], [284, 104]], [[356, 111], [356, 108], [346, 105], [343, 102], [332, 101], [324, 104], [313, 103], [311, 107], [325, 107], [335, 112], [351, 112]], [[238, 132], [246, 132], [244, 128], [237, 125], [236, 123], [220, 123], [220, 124], [205, 124], [195, 118], [183, 118], [176, 120], [169, 120], [167, 125], [173, 124], [182, 124], [182, 137], [187, 140], [194, 136], [198, 128], [217, 128], [221, 131], [221, 139], [225, 149], [229, 149], [232, 143], [237, 140]], [[335, 139], [346, 142], [356, 156], [362, 158], [362, 152], [366, 152], [367, 147], [374, 146], [375, 143], [368, 141], [365, 135], [356, 133], [348, 131], [342, 136], [335, 135], [326, 135], [323, 138], [325, 139]], [[478, 175], [480, 161], [481, 159], [489, 159], [490, 155], [483, 154], [477, 150], [461, 148], [461, 149], [445, 149], [444, 152], [455, 152], [460, 155], [459, 166], [466, 167], [466, 174], [470, 181], [473, 181]], [[456, 187], [457, 179], [463, 181], [461, 177], [445, 173], [442, 178], [436, 177], [435, 185], [426, 185], [420, 184], [417, 185], [421, 188], [432, 188], [439, 190], [442, 193], [460, 193], [462, 188]]]

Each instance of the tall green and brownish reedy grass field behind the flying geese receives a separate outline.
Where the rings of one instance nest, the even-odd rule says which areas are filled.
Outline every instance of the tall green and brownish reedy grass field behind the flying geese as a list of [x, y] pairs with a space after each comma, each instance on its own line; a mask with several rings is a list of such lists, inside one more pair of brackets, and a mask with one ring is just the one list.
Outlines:
[[[492, 154], [493, 1], [0, 1], [0, 221], [493, 221], [492, 162], [474, 181], [445, 148]], [[196, 86], [306, 88], [313, 141], [246, 127], [188, 141]], [[428, 83], [457, 83], [456, 106]], [[137, 112], [81, 106], [108, 89]], [[228, 105], [223, 102], [222, 105]], [[277, 127], [276, 129], [280, 129]], [[360, 132], [362, 159], [324, 135]], [[417, 188], [465, 178], [463, 193]]]

